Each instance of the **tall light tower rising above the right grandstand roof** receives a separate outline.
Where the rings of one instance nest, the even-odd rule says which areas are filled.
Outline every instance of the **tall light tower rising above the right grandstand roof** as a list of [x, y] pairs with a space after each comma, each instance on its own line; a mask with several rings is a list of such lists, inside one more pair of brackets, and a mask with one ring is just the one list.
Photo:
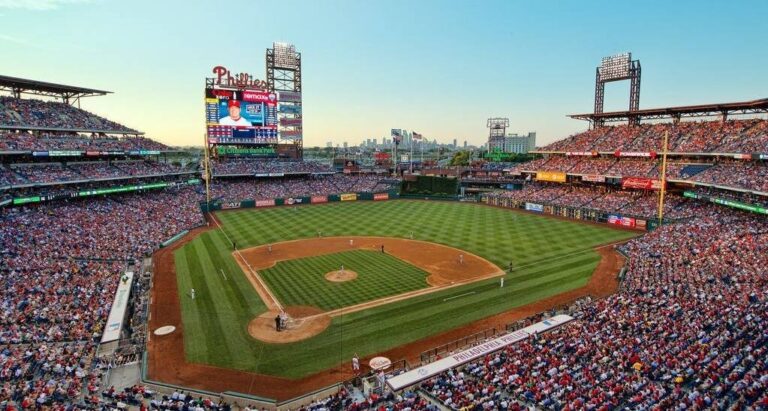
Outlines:
[[[629, 111], [640, 109], [640, 60], [632, 60], [632, 53], [603, 57], [600, 67], [595, 69], [595, 114], [603, 112], [605, 83], [629, 80]], [[637, 124], [636, 116], [629, 116], [629, 124]], [[600, 120], [595, 126], [602, 126]]]

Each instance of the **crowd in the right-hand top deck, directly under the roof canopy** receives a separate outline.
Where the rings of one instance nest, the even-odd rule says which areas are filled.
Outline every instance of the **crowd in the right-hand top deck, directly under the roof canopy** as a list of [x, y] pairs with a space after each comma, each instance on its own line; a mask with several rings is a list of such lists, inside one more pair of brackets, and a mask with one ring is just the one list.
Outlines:
[[682, 121], [600, 127], [543, 147], [543, 151], [661, 152], [664, 135], [669, 150], [680, 153], [766, 153], [768, 120]]

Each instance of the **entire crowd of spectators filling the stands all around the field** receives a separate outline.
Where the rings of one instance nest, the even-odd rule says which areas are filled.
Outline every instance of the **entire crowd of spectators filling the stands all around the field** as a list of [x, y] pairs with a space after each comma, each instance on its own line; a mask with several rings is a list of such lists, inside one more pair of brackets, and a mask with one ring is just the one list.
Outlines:
[[[546, 147], [542, 151], [547, 157], [511, 167], [504, 178], [520, 182], [522, 189], [487, 198], [649, 218], [656, 213], [653, 192], [578, 179], [566, 184], [532, 180], [540, 171], [657, 177], [658, 158], [615, 153], [658, 151], [661, 136], [669, 131], [673, 152], [693, 154], [673, 156], [668, 178], [695, 184], [695, 196], [669, 193], [665, 207], [672, 223], [621, 247], [629, 262], [620, 291], [574, 303], [568, 311], [576, 318], [573, 323], [403, 392], [361, 396], [342, 388], [302, 409], [433, 410], [438, 409], [435, 404], [465, 410], [767, 409], [768, 221], [764, 215], [694, 198], [765, 205], [765, 161], [733, 154], [768, 153], [766, 123], [597, 128]], [[66, 104], [2, 98], [0, 125], [9, 130], [0, 135], [2, 196], [51, 197], [0, 207], [4, 409], [106, 409], [118, 402], [157, 409], [229, 409], [210, 395], [163, 395], [140, 382], [124, 390], [105, 385], [107, 370], [126, 357], [142, 355], [148, 279], [133, 286], [131, 319], [124, 330], [127, 344], [97, 357], [109, 307], [126, 270], [162, 242], [205, 224], [198, 206], [200, 186], [183, 184], [190, 175], [199, 175], [197, 163], [174, 164], [162, 154], [131, 155], [132, 150], [172, 148], [142, 136], [110, 137], [103, 130], [135, 130]], [[57, 131], [26, 131], [35, 127]], [[83, 129], [90, 132], [75, 131]], [[124, 153], [119, 160], [100, 155], [66, 162], [11, 154], [59, 150]], [[702, 155], [715, 152], [731, 155]], [[276, 170], [287, 176], [252, 176]], [[222, 161], [214, 164], [214, 178], [214, 197], [233, 201], [378, 191], [392, 184], [377, 176], [334, 174], [316, 163], [277, 160]], [[164, 188], [58, 196], [156, 183]]]

